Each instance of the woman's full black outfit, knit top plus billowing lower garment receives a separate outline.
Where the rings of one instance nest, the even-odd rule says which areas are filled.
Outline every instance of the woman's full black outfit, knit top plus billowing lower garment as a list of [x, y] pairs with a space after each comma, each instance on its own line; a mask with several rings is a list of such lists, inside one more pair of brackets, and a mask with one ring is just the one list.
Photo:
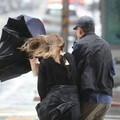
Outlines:
[[[65, 65], [65, 61], [69, 65]], [[41, 59], [38, 93], [41, 103], [36, 106], [40, 120], [78, 120], [80, 117], [77, 70], [72, 54], [60, 58]]]

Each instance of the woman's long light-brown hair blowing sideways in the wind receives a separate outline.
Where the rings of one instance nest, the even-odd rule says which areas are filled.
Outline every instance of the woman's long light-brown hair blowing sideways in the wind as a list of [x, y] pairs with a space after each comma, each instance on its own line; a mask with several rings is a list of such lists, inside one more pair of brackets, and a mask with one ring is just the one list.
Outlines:
[[64, 47], [64, 40], [59, 34], [41, 35], [38, 38], [30, 38], [20, 48], [26, 51], [30, 57], [42, 57], [53, 59], [60, 63], [60, 50]]

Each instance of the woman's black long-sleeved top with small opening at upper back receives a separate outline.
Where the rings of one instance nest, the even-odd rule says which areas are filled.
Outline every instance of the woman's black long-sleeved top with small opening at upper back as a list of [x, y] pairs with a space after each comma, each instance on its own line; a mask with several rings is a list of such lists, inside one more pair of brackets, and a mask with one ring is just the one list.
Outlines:
[[[65, 65], [64, 59], [67, 59], [70, 65]], [[40, 60], [37, 85], [41, 100], [54, 85], [77, 85], [74, 56], [67, 52], [60, 60], [61, 64], [56, 63], [52, 57]]]

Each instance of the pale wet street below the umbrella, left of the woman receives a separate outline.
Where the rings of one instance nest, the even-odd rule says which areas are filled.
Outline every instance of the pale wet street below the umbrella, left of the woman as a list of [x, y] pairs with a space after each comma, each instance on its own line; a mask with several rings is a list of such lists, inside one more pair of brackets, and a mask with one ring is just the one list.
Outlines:
[[36, 83], [31, 72], [0, 83], [0, 120], [37, 120]]

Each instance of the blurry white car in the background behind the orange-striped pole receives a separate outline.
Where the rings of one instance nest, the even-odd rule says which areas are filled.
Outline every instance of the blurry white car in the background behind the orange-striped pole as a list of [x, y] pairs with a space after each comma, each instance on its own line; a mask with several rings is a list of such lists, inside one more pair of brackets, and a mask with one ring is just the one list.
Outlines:
[[[69, 24], [68, 32], [69, 36], [76, 36], [73, 27], [76, 25], [78, 16], [76, 14], [76, 9], [74, 5], [69, 5]], [[62, 31], [62, 4], [49, 4], [46, 7], [45, 13], [43, 15], [43, 23], [46, 28], [46, 32], [49, 33], [59, 33]]]

